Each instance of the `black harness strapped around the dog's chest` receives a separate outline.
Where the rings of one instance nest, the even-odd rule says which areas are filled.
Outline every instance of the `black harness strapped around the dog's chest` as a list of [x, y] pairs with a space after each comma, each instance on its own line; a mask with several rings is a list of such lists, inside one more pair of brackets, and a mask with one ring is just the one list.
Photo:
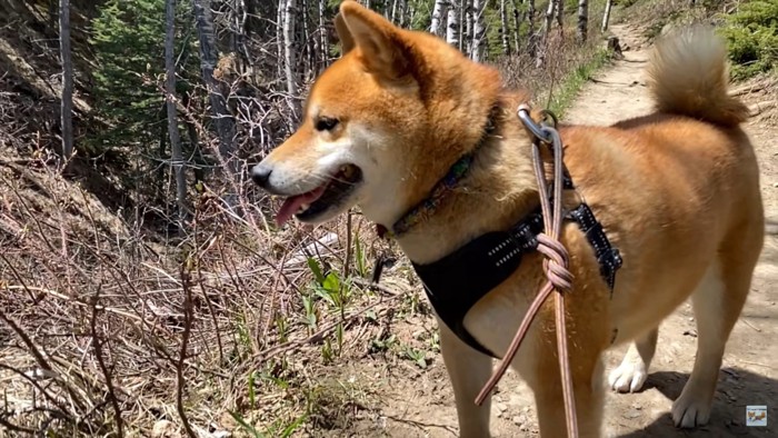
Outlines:
[[[567, 170], [563, 185], [565, 189], [575, 188]], [[565, 219], [578, 223], [586, 235], [612, 296], [616, 271], [621, 267], [618, 249], [610, 245], [588, 205], [579, 205]], [[509, 230], [485, 233], [438, 261], [412, 263], [436, 313], [465, 344], [497, 358], [465, 329], [465, 316], [519, 268], [525, 253], [537, 249], [537, 236], [542, 230], [543, 217], [538, 209]]]

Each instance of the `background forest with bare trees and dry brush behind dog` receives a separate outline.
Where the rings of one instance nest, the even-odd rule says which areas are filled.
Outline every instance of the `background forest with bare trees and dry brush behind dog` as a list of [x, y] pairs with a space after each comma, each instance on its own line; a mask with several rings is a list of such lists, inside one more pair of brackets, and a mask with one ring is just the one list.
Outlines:
[[[778, 60], [772, 0], [362, 3], [562, 116], [618, 56], [611, 21], [642, 21], [649, 40], [715, 22], [736, 79]], [[389, 328], [429, 317], [393, 246], [358, 211], [276, 229], [275, 200], [247, 181], [339, 56], [338, 4], [0, 0], [0, 429], [338, 430], [359, 396], [311, 374], [357, 345], [428, 365], [435, 334], [409, 347]]]

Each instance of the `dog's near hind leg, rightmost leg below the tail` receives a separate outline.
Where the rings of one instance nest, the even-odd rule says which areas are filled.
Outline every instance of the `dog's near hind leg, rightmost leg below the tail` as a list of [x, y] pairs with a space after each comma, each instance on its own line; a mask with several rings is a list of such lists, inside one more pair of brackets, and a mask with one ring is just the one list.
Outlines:
[[[697, 319], [697, 357], [689, 380], [672, 404], [677, 427], [702, 426], [710, 419], [725, 346], [746, 302], [758, 258], [755, 240], [722, 248], [691, 296]], [[734, 248], [732, 248], [734, 247]]]

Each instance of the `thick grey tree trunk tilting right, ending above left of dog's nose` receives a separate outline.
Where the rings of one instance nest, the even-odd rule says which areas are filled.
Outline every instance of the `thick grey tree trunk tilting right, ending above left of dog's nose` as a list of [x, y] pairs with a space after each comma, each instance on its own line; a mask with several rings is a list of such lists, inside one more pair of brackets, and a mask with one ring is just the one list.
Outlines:
[[230, 177], [237, 175], [237, 165], [232, 152], [235, 139], [235, 120], [227, 111], [227, 100], [221, 93], [221, 87], [213, 78], [213, 69], [218, 60], [218, 51], [213, 34], [213, 16], [210, 0], [194, 0], [194, 17], [200, 40], [200, 69], [202, 80], [208, 88], [208, 98], [213, 112], [215, 125], [219, 136], [219, 155]]

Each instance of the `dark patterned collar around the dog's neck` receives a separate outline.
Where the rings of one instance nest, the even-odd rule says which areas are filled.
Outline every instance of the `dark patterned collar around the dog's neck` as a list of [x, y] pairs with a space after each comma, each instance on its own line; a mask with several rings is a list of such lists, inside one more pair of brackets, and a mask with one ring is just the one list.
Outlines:
[[489, 118], [487, 119], [486, 127], [483, 128], [483, 135], [476, 147], [471, 151], [465, 153], [449, 168], [448, 173], [446, 173], [446, 176], [440, 179], [435, 187], [432, 187], [432, 190], [426, 199], [421, 200], [421, 202], [417, 203], [405, 215], [402, 215], [402, 217], [400, 217], [400, 219], [398, 219], [397, 222], [391, 226], [391, 229], [387, 229], [387, 227], [380, 223], [376, 226], [376, 231], [378, 232], [379, 238], [396, 238], [410, 230], [417, 223], [427, 220], [427, 218], [432, 216], [446, 196], [451, 192], [451, 190], [453, 190], [469, 173], [468, 171], [472, 166], [476, 153], [487, 142], [489, 137], [497, 128], [496, 115], [498, 111], [499, 107], [495, 106], [489, 115]]

